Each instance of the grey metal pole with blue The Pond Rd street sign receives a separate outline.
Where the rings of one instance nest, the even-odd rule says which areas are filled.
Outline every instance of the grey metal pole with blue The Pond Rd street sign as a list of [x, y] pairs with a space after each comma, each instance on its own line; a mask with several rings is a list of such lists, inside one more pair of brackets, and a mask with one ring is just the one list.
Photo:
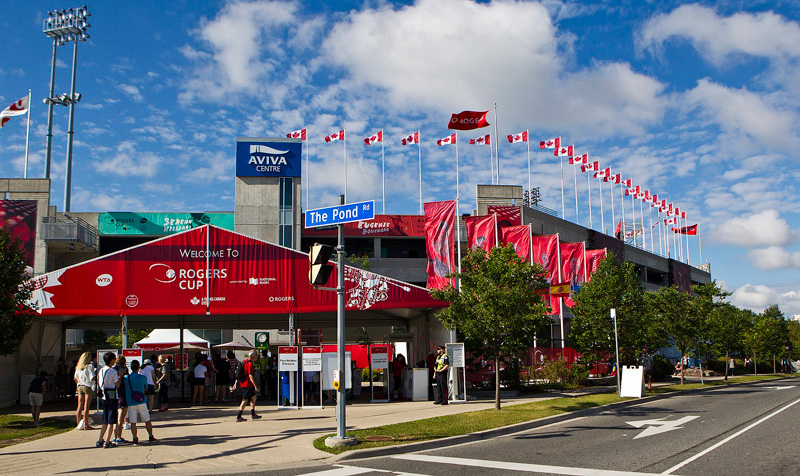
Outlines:
[[[375, 218], [375, 201], [350, 203], [345, 205], [344, 195], [339, 195], [339, 205], [328, 208], [308, 210], [305, 214], [306, 228], [318, 226], [338, 225], [337, 234], [339, 244], [336, 247], [336, 287], [323, 288], [325, 291], [336, 291], [336, 357], [339, 363], [337, 375], [345, 375], [347, 362], [344, 358], [344, 224], [360, 220], [373, 220]], [[336, 436], [328, 437], [325, 445], [328, 447], [352, 446], [358, 440], [346, 434], [345, 385], [336, 389]]]

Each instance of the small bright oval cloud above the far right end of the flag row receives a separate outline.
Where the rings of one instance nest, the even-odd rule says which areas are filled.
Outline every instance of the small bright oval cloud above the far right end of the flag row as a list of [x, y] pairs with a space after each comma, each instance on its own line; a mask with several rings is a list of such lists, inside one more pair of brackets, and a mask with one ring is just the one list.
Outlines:
[[786, 220], [780, 218], [777, 210], [731, 218], [712, 234], [718, 242], [745, 247], [784, 246], [795, 238], [795, 233]]

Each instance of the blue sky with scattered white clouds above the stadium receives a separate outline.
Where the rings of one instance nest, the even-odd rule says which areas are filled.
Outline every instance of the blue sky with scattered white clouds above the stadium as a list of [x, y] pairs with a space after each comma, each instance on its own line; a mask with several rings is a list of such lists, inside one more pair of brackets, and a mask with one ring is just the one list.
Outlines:
[[[52, 51], [42, 20], [78, 4], [6, 3], [0, 107], [33, 90], [28, 173], [41, 177]], [[323, 137], [346, 127], [349, 200], [381, 198], [380, 148], [363, 138], [384, 129], [386, 211], [416, 213], [417, 148], [400, 139], [421, 130], [424, 200], [454, 198], [455, 148], [435, 140], [450, 113], [496, 102], [501, 138], [561, 136], [685, 210], [735, 304], [800, 314], [800, 2], [86, 4], [73, 211], [233, 210], [236, 137], [308, 126], [312, 208], [343, 190], [342, 145]], [[72, 44], [59, 47], [56, 94], [69, 91], [71, 61]], [[56, 106], [59, 209], [67, 120]], [[474, 208], [475, 184], [491, 181], [488, 148], [466, 144], [487, 132], [459, 136], [462, 210]], [[14, 118], [0, 129], [0, 176], [22, 176], [24, 145], [25, 120]], [[534, 186], [560, 211], [559, 162], [532, 145]], [[524, 145], [503, 140], [499, 155], [501, 183], [527, 186]], [[578, 196], [585, 225], [585, 177]], [[597, 228], [596, 182], [593, 198]], [[697, 240], [690, 246], [698, 264]]]

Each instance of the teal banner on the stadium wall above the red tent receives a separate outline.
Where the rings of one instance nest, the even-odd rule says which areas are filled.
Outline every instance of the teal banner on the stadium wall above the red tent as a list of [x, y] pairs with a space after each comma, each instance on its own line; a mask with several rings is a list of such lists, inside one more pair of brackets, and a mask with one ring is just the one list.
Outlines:
[[103, 236], [164, 236], [214, 225], [233, 231], [233, 213], [133, 213], [108, 212], [97, 216], [97, 232]]

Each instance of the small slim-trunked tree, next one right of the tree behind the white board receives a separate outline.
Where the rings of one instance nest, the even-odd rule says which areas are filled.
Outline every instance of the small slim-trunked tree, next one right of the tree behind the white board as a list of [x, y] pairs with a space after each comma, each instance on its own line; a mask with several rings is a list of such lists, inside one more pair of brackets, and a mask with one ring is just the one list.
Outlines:
[[[692, 296], [676, 286], [664, 287], [653, 293], [653, 305], [669, 340], [681, 353], [681, 361], [688, 351], [697, 348], [705, 333], [703, 316], [697, 313]], [[681, 366], [681, 384], [685, 369]]]

